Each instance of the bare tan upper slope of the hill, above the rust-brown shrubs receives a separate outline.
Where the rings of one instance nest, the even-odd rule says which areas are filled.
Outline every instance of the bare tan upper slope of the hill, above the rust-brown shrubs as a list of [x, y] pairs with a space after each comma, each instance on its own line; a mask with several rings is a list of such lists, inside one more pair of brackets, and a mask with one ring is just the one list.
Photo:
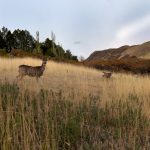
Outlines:
[[86, 61], [110, 60], [137, 57], [142, 59], [150, 59], [150, 42], [134, 46], [122, 46], [102, 51], [93, 52]]

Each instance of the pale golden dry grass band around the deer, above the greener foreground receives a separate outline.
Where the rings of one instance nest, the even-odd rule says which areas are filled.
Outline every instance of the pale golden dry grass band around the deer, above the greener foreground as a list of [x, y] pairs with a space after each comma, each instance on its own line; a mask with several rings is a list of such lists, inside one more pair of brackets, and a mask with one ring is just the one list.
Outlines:
[[82, 99], [82, 96], [88, 96], [91, 93], [101, 96], [104, 101], [113, 98], [127, 99], [131, 93], [134, 93], [145, 102], [150, 97], [149, 76], [114, 73], [111, 79], [104, 79], [101, 71], [52, 61], [47, 63], [44, 75], [38, 83], [35, 78], [27, 76], [22, 81], [17, 82], [16, 76], [18, 75], [19, 65], [38, 66], [41, 63], [41, 60], [31, 58], [1, 58], [0, 79], [16, 82], [22, 90], [62, 90], [67, 96], [73, 92], [76, 99]]

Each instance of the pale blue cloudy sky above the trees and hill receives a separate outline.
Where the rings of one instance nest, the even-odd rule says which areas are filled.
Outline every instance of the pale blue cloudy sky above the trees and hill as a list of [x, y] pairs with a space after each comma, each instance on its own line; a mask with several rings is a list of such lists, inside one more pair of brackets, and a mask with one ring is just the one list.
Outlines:
[[0, 28], [51, 38], [74, 55], [150, 41], [150, 0], [0, 0]]

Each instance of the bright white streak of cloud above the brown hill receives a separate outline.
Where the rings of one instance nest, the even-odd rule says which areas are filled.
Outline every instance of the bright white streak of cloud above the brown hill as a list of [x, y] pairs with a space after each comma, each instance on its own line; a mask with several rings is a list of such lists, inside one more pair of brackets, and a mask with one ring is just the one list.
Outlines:
[[126, 40], [145, 30], [147, 27], [150, 27], [150, 14], [122, 27], [117, 32], [117, 39]]

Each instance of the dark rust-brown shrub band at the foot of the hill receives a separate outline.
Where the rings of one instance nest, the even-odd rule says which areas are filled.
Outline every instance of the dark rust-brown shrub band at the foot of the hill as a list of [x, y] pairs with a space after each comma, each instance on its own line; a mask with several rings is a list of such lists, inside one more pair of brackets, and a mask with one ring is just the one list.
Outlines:
[[132, 72], [136, 74], [150, 73], [150, 60], [133, 58], [85, 61], [84, 65], [100, 70]]

